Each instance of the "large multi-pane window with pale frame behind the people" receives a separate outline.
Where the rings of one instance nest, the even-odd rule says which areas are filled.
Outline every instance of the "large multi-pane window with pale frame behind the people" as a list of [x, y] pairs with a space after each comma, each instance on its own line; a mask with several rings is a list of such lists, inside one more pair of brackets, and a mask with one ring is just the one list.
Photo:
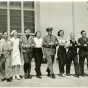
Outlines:
[[25, 28], [30, 28], [32, 33], [35, 32], [34, 1], [1, 1], [0, 33], [2, 31], [11, 32], [12, 30], [17, 30], [18, 33], [22, 33]]

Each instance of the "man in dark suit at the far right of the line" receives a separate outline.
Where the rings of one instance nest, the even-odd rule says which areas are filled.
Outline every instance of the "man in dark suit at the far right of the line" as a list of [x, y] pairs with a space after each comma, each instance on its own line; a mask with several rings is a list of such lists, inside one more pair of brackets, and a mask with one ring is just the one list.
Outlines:
[[78, 39], [79, 44], [79, 67], [81, 71], [81, 75], [85, 76], [84, 74], [84, 62], [85, 58], [88, 60], [88, 38], [86, 37], [85, 30], [81, 31], [82, 37]]

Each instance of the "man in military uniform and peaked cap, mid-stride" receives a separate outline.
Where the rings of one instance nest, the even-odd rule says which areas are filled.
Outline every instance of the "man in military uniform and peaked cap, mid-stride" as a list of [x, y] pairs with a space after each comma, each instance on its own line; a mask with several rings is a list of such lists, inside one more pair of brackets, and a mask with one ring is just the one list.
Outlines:
[[45, 54], [47, 58], [48, 76], [50, 76], [50, 72], [51, 72], [51, 77], [55, 78], [55, 75], [53, 72], [53, 62], [56, 54], [56, 46], [58, 45], [58, 40], [54, 35], [52, 35], [52, 30], [53, 30], [52, 27], [49, 27], [46, 29], [46, 31], [48, 32], [48, 35], [43, 38], [43, 47], [45, 49]]

